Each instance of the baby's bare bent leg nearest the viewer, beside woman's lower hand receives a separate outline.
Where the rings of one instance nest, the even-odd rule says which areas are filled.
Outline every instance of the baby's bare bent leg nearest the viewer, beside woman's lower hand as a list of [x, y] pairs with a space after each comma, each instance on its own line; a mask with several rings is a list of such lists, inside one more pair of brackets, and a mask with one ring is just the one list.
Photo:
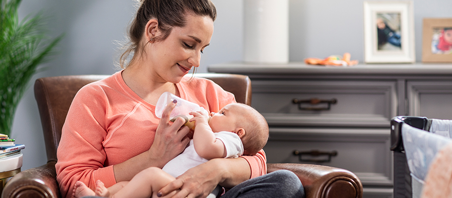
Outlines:
[[[160, 168], [146, 168], [135, 175], [127, 185], [118, 191], [114, 198], [156, 198], [157, 192], [175, 178]], [[175, 194], [170, 193], [165, 198], [171, 198]]]

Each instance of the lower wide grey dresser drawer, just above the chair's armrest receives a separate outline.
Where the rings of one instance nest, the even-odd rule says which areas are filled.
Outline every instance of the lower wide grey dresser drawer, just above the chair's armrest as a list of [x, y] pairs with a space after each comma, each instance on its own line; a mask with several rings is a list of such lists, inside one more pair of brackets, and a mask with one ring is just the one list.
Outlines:
[[[363, 185], [392, 186], [389, 129], [270, 128], [268, 163], [320, 164], [355, 173]], [[295, 155], [294, 151], [336, 153]], [[303, 160], [303, 161], [300, 161]], [[319, 162], [325, 161], [325, 162]]]

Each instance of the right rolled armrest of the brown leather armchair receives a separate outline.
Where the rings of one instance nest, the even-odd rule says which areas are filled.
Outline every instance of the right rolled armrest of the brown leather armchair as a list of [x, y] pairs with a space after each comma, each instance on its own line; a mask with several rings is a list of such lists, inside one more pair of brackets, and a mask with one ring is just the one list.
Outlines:
[[363, 184], [352, 172], [311, 164], [267, 164], [267, 173], [286, 169], [294, 172], [306, 198], [362, 198]]

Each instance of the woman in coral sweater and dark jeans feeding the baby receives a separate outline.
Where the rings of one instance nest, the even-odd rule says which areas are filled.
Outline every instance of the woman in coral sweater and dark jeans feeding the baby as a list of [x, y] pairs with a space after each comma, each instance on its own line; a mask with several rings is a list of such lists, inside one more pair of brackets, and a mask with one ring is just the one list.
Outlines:
[[[165, 109], [162, 119], [155, 116], [155, 104], [163, 92], [210, 112], [235, 103], [231, 93], [212, 81], [184, 78], [199, 66], [215, 18], [210, 0], [141, 0], [122, 65], [133, 52], [131, 61], [122, 71], [82, 88], [71, 104], [55, 165], [63, 197], [71, 197], [76, 181], [91, 189], [97, 180], [106, 187], [130, 181], [145, 168], [162, 168], [185, 149], [191, 135], [188, 127], [181, 128], [182, 118], [169, 122], [174, 105]], [[206, 197], [220, 184], [232, 188], [225, 198], [303, 195], [301, 183], [289, 171], [258, 177], [265, 174], [265, 163], [263, 151], [210, 160], [159, 192], [164, 196], [180, 189], [174, 198]]]

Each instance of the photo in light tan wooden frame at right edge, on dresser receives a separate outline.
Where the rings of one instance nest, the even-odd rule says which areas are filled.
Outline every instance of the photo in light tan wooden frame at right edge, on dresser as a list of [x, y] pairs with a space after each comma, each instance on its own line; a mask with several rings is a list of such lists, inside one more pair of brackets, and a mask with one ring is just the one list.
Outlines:
[[424, 18], [422, 62], [452, 62], [452, 18]]

